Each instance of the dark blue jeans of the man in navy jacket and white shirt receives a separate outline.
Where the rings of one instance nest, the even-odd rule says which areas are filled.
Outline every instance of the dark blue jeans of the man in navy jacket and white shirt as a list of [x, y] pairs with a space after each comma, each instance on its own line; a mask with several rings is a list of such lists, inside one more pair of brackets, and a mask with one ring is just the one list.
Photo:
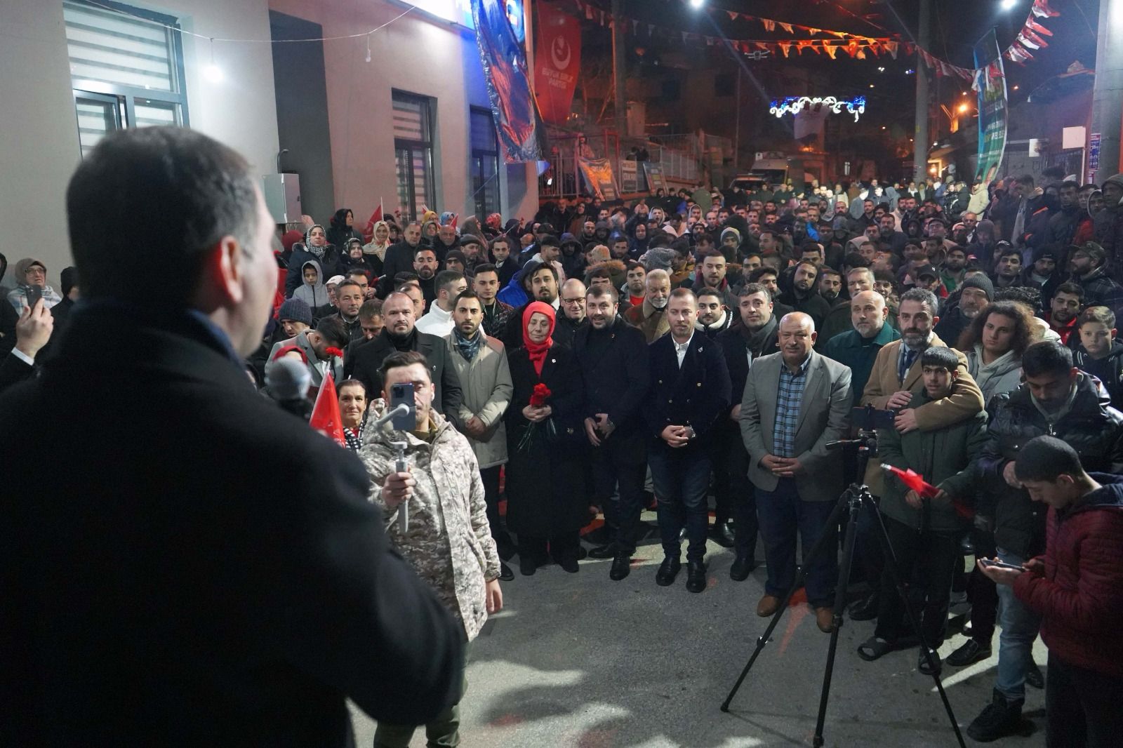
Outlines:
[[710, 456], [699, 445], [678, 449], [656, 447], [648, 455], [651, 482], [659, 501], [659, 537], [663, 553], [678, 558], [678, 533], [686, 527], [686, 560], [705, 556], [705, 530], [710, 524], [706, 491]]

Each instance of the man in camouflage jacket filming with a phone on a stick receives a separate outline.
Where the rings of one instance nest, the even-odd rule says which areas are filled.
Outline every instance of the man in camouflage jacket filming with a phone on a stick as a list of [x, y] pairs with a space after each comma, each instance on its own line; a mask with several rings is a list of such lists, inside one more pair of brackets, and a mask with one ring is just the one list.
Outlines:
[[[373, 486], [372, 499], [385, 513], [386, 535], [437, 598], [459, 620], [468, 641], [480, 633], [489, 613], [503, 608], [500, 560], [487, 523], [487, 503], [480, 467], [467, 437], [432, 408], [436, 387], [429, 364], [417, 350], [386, 356], [378, 370], [381, 416], [394, 384], [412, 383], [417, 427], [403, 432], [386, 428], [364, 435], [358, 456]], [[394, 441], [405, 441], [408, 473], [396, 468]], [[399, 507], [409, 502], [409, 527], [402, 532]], [[463, 665], [463, 664], [462, 664]], [[467, 687], [460, 687], [460, 699]], [[459, 702], [426, 724], [429, 745], [459, 741]], [[416, 727], [378, 722], [375, 748], [408, 748]]]

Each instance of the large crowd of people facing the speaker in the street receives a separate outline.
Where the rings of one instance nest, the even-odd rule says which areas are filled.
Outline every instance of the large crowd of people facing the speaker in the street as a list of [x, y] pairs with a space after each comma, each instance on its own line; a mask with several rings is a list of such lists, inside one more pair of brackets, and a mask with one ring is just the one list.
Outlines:
[[[745, 581], [759, 540], [756, 612], [770, 617], [796, 578], [797, 539], [805, 551], [824, 535], [838, 547], [828, 519], [858, 480], [893, 551], [880, 553], [876, 519], [859, 520], [868, 592], [849, 615], [876, 621], [859, 657], [923, 640], [917, 668], [939, 671], [951, 602], [966, 596], [970, 637], [948, 665], [988, 657], [1002, 628], [993, 701], [971, 737], [1019, 729], [1025, 684], [1044, 685], [1039, 633], [1050, 745], [1108, 745], [1123, 729], [1112, 626], [1123, 603], [1123, 174], [971, 191], [874, 180], [614, 204], [581, 195], [529, 221], [381, 212], [279, 228], [273, 314], [243, 362], [279, 400], [291, 399], [284, 362], [305, 370], [305, 416], [331, 380], [390, 542], [465, 640], [502, 606], [515, 557], [523, 576], [549, 563], [576, 573], [586, 556], [611, 559], [612, 581], [629, 576], [648, 508], [658, 585], [678, 578], [685, 542], [686, 589], [704, 592], [707, 540], [732, 549], [729, 576]], [[13, 271], [3, 387], [64, 367], [56, 337], [83, 307], [74, 268], [57, 292], [39, 259]], [[369, 427], [396, 383], [413, 386], [416, 428]], [[874, 422], [856, 423], [865, 407]], [[865, 476], [853, 454], [827, 446], [859, 427], [880, 450]], [[883, 463], [920, 473], [935, 495]], [[967, 573], [965, 555], [1008, 567], [980, 560]], [[807, 601], [829, 632], [843, 615], [837, 555], [807, 560]], [[910, 583], [920, 631], [889, 565]], [[429, 717], [430, 740], [455, 735], [455, 703]], [[1079, 722], [1084, 741], [1053, 742], [1054, 720]], [[375, 745], [408, 745], [412, 731], [380, 722]]]

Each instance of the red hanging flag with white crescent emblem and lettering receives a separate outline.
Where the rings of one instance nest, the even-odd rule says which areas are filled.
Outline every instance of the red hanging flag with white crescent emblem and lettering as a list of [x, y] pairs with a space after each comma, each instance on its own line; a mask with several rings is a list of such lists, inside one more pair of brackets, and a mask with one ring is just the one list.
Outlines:
[[551, 3], [538, 3], [538, 49], [535, 54], [535, 97], [547, 122], [569, 118], [581, 71], [581, 24]]

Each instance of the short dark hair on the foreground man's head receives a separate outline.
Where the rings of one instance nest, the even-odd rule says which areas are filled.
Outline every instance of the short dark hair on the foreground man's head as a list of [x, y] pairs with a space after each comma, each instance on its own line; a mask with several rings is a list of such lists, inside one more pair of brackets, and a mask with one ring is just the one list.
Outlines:
[[[188, 307], [209, 250], [225, 236], [244, 248], [254, 240], [257, 190], [248, 168], [227, 146], [186, 128], [128, 128], [102, 138], [66, 189], [82, 295]], [[137, 293], [143, 288], [161, 293]]]

